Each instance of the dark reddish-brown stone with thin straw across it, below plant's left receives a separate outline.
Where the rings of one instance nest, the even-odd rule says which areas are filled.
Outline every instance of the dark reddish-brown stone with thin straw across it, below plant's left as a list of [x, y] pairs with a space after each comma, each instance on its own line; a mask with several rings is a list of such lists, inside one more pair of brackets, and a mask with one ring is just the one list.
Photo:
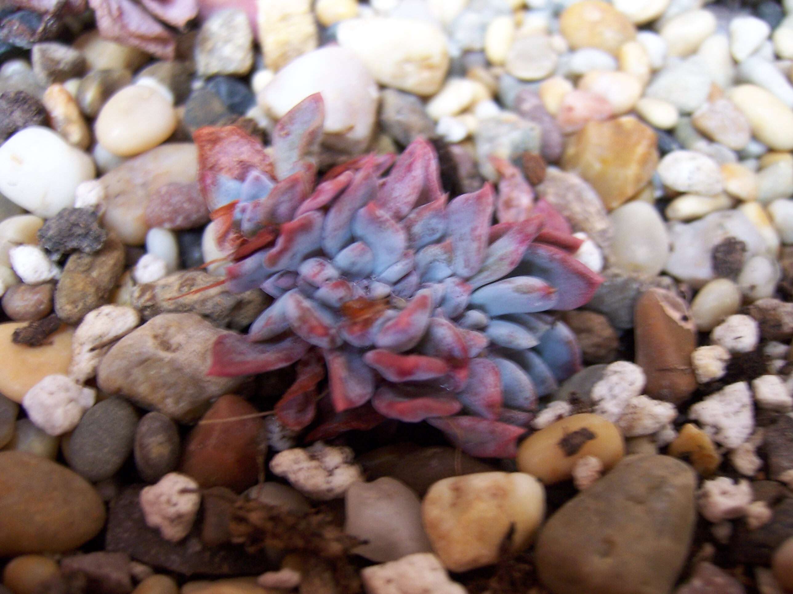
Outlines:
[[242, 493], [254, 485], [264, 425], [261, 417], [252, 416], [258, 412], [234, 394], [218, 398], [187, 436], [180, 472], [204, 488], [223, 486]]

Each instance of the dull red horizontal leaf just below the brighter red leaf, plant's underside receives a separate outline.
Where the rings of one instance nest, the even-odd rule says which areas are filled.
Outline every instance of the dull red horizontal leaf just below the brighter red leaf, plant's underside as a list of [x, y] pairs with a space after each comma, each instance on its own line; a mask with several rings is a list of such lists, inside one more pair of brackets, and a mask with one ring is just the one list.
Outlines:
[[462, 410], [457, 398], [439, 390], [409, 389], [386, 384], [377, 388], [372, 406], [383, 417], [404, 423], [418, 423], [431, 417], [450, 417]]

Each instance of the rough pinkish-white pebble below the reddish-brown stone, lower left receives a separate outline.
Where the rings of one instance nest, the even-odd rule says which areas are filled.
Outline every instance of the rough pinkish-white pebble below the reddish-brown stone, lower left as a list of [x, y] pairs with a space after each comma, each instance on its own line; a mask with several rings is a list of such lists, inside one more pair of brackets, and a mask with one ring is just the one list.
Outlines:
[[156, 485], [140, 491], [140, 509], [150, 528], [171, 543], [178, 543], [190, 533], [198, 508], [201, 488], [186, 474], [169, 472]]

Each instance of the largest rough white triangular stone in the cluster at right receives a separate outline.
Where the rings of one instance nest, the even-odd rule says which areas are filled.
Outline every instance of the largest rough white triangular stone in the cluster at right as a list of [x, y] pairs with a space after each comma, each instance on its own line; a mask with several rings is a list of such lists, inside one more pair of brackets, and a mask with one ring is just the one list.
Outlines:
[[749, 439], [754, 431], [752, 393], [746, 382], [731, 383], [688, 409], [711, 438], [730, 449]]

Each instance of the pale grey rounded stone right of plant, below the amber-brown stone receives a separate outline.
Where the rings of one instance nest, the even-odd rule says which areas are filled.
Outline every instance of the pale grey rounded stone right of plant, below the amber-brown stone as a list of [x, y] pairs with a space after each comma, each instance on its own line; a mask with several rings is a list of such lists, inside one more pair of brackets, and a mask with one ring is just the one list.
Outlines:
[[614, 227], [611, 261], [625, 272], [657, 276], [669, 255], [664, 220], [646, 202], [623, 204], [609, 215]]

